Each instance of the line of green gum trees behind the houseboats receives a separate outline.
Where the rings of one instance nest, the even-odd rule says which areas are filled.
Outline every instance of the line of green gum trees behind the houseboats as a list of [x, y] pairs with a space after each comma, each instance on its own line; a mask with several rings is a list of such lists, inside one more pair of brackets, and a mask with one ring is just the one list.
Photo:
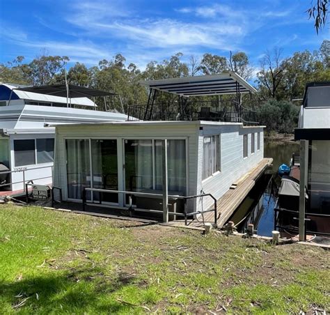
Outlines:
[[[150, 61], [144, 70], [134, 63], [127, 65], [122, 54], [111, 60], [103, 59], [90, 68], [84, 63], [75, 63], [68, 69], [70, 84], [88, 86], [104, 91], [112, 91], [121, 97], [125, 109], [129, 105], [146, 104], [148, 91], [139, 85], [141, 79], [165, 79], [187, 77], [189, 75], [212, 75], [232, 70], [251, 82], [258, 89], [253, 98], [260, 113], [260, 123], [269, 131], [290, 132], [297, 125], [299, 103], [294, 99], [304, 95], [307, 82], [330, 81], [330, 41], [324, 40], [320, 49], [314, 52], [294, 52], [283, 58], [281, 49], [267, 51], [260, 60], [259, 70], [251, 65], [244, 52], [230, 52], [229, 56], [206, 53], [203, 56], [189, 56], [182, 61], [181, 53], [164, 61]], [[68, 56], [48, 56], [40, 54], [31, 62], [24, 62], [24, 56], [13, 61], [0, 63], [0, 82], [45, 85], [65, 82], [65, 66]], [[212, 96], [208, 97], [212, 99]], [[213, 97], [214, 98], [214, 97]], [[173, 100], [171, 95], [160, 95], [161, 100]], [[103, 100], [96, 100], [104, 109]], [[113, 100], [113, 108], [120, 110], [121, 102]], [[246, 102], [249, 100], [246, 99]]]

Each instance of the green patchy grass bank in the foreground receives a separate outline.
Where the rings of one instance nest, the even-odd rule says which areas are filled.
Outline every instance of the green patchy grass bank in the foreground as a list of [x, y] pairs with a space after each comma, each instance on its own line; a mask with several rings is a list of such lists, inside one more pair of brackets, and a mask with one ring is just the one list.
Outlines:
[[0, 312], [329, 310], [329, 252], [0, 206]]

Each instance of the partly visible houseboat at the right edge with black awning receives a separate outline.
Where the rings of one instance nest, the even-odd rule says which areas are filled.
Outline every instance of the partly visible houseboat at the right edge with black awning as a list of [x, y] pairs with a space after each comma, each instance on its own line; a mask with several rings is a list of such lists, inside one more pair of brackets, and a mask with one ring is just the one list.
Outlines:
[[330, 82], [306, 85], [294, 139], [300, 154], [281, 183], [276, 228], [300, 240], [306, 233], [330, 236]]

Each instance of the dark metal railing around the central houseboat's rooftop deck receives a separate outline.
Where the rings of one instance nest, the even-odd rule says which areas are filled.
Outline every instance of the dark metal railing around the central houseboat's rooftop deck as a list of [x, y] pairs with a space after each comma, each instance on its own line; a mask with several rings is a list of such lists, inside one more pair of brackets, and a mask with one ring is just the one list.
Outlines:
[[258, 125], [258, 112], [233, 100], [132, 105], [127, 116], [129, 121], [223, 121]]

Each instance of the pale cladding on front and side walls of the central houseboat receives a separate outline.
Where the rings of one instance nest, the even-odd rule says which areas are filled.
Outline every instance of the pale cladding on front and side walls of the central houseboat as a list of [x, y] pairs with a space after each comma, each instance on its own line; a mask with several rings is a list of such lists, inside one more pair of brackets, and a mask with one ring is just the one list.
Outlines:
[[[203, 130], [200, 130], [203, 127]], [[256, 132], [256, 153], [251, 155], [251, 132]], [[258, 136], [260, 132], [260, 150]], [[220, 135], [221, 171], [202, 181], [203, 136]], [[248, 157], [243, 158], [243, 135], [249, 135]], [[263, 158], [263, 128], [243, 128], [241, 124], [205, 123], [205, 122], [163, 122], [163, 123], [109, 123], [91, 125], [59, 125], [56, 127], [56, 149], [54, 163], [54, 185], [62, 187], [63, 199], [68, 198], [65, 174], [65, 139], [117, 139], [118, 153], [123, 151], [123, 139], [187, 139], [187, 178], [188, 195], [210, 193], [219, 199], [232, 185], [256, 166]], [[121, 162], [120, 162], [121, 161]], [[121, 181], [120, 181], [121, 178]], [[118, 185], [123, 186], [123, 155], [118, 156]], [[209, 197], [194, 201], [188, 206], [189, 212], [207, 210], [213, 201]]]

